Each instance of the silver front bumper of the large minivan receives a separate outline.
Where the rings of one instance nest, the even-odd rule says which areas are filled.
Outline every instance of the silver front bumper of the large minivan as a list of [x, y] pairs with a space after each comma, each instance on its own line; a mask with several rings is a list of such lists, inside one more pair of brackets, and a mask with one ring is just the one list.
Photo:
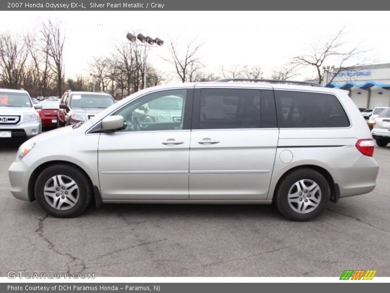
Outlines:
[[18, 199], [31, 201], [28, 197], [28, 182], [32, 171], [21, 159], [12, 163], [8, 169], [8, 177], [11, 183], [11, 193]]

